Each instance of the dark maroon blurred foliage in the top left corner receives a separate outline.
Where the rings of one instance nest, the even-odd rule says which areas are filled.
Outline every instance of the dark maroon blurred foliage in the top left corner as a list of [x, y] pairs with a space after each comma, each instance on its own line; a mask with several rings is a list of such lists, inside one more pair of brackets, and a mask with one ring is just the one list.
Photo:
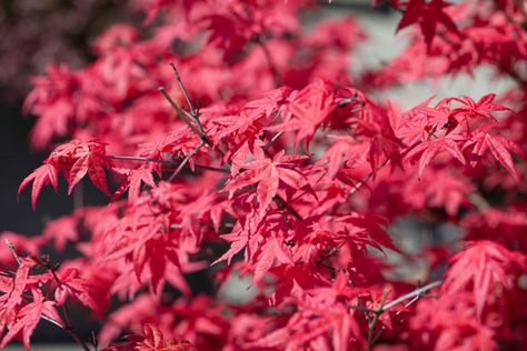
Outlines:
[[139, 20], [127, 0], [0, 1], [0, 93], [17, 103], [30, 77], [50, 63], [79, 68], [93, 57], [89, 42], [111, 23]]

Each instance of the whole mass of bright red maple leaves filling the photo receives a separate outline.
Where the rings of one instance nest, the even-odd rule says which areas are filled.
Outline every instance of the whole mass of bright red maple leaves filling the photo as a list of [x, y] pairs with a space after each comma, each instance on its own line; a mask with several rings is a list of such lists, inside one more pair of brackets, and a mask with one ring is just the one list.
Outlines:
[[[90, 350], [76, 302], [108, 351], [527, 345], [525, 8], [391, 1], [408, 48], [354, 76], [366, 33], [349, 18], [306, 30], [311, 1], [138, 4], [145, 22], [108, 29], [92, 63], [33, 80], [31, 142], [51, 153], [19, 194], [34, 208], [47, 185], [91, 181], [109, 204], [2, 234], [0, 347], [29, 349], [48, 320]], [[481, 64], [510, 91], [407, 111], [376, 94]], [[389, 229], [409, 217], [463, 235], [406, 252]], [[50, 245], [79, 255], [54, 264]], [[427, 268], [398, 277], [388, 255]], [[188, 283], [203, 270], [209, 294]], [[255, 295], [222, 300], [238, 275]]]

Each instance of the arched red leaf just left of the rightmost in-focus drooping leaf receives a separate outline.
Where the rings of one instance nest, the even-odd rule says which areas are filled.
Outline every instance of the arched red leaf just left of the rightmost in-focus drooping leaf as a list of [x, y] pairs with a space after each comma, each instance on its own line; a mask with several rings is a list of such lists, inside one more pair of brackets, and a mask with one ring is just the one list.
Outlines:
[[422, 178], [425, 167], [431, 162], [431, 160], [443, 151], [447, 151], [450, 156], [457, 159], [463, 164], [466, 163], [465, 157], [463, 156], [461, 149], [458, 142], [465, 140], [461, 136], [446, 136], [443, 138], [426, 141], [416, 148], [414, 148], [406, 156], [411, 162], [415, 162], [419, 158], [419, 178]]

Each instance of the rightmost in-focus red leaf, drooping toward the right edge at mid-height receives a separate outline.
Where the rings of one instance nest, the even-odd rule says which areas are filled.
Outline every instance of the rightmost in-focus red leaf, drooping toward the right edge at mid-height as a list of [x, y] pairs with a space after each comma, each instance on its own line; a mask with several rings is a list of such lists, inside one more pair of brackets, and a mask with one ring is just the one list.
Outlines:
[[[488, 150], [490, 150], [494, 158], [501, 163], [507, 171], [509, 171], [516, 181], [518, 181], [518, 173], [516, 172], [509, 150], [518, 156], [525, 157], [524, 151], [514, 141], [507, 140], [501, 136], [489, 134], [486, 130], [488, 130], [488, 128], [481, 128], [476, 131], [463, 148], [466, 149], [471, 147], [473, 153], [478, 157], [483, 157]], [[470, 163], [474, 164], [475, 161]]]

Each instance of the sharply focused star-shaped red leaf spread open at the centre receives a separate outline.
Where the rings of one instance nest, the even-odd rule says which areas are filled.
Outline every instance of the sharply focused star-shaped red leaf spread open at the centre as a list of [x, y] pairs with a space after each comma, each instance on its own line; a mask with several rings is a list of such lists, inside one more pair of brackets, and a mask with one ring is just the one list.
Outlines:
[[307, 156], [286, 156], [282, 150], [278, 152], [272, 160], [255, 160], [242, 166], [246, 171], [227, 183], [223, 191], [233, 191], [258, 183], [258, 201], [260, 209], [265, 210], [277, 194], [279, 181], [282, 181], [294, 189], [299, 189], [307, 182], [304, 174], [291, 166], [308, 158]]

